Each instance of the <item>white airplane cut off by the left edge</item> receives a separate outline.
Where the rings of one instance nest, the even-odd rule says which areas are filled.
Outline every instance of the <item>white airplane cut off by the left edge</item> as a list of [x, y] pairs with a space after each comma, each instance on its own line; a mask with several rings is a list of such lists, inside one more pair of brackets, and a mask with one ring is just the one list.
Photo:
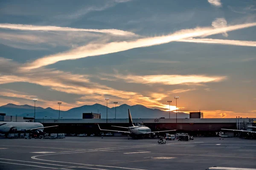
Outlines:
[[0, 133], [5, 134], [6, 137], [9, 133], [41, 134], [44, 132], [44, 128], [57, 126], [58, 125], [44, 127], [44, 125], [37, 122], [0, 122]]

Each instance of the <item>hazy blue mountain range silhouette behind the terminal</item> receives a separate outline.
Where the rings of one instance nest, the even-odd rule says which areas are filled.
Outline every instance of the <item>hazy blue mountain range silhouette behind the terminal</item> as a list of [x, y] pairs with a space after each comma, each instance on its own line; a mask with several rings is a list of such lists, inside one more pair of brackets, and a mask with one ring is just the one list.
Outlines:
[[[35, 110], [34, 110], [35, 109]], [[147, 108], [143, 105], [119, 105], [116, 106], [116, 119], [127, 119], [128, 109], [131, 111], [132, 118], [134, 119], [154, 119], [165, 117], [169, 118], [169, 111], [161, 111], [159, 109]], [[9, 116], [24, 116], [33, 117], [35, 112], [36, 119], [55, 119], [58, 118], [58, 110], [52, 108], [41, 108], [30, 105], [15, 105], [9, 103], [0, 107], [0, 113], [6, 113]], [[102, 119], [107, 117], [107, 107], [98, 103], [94, 105], [83, 105], [81, 107], [72, 108], [68, 111], [60, 111], [60, 117], [63, 119], [82, 119], [82, 113], [101, 113]], [[176, 118], [176, 113], [171, 111], [171, 118]], [[108, 119], [115, 118], [115, 107], [108, 108]], [[177, 118], [189, 118], [189, 114], [179, 112]]]

